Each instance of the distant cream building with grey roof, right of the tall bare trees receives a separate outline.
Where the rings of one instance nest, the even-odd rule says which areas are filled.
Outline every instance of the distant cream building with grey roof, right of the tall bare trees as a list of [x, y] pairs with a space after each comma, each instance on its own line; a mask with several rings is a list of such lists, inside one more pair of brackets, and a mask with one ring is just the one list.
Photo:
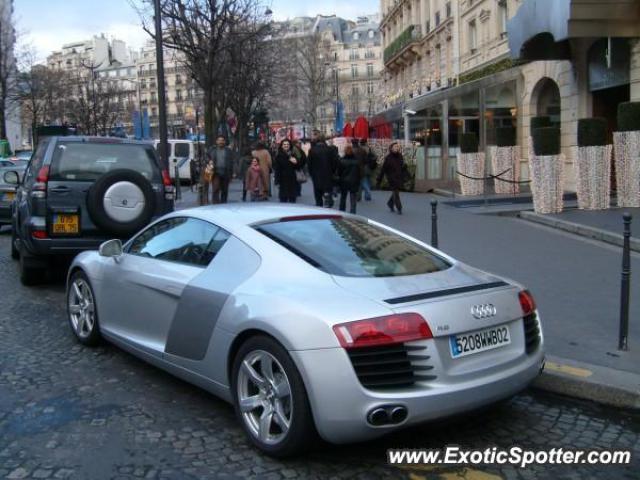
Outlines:
[[[369, 15], [354, 22], [335, 15], [318, 15], [297, 17], [274, 26], [271, 40], [278, 51], [318, 57], [305, 63], [319, 72], [316, 74], [320, 75], [321, 85], [315, 125], [304, 98], [309, 78], [302, 78], [297, 80], [297, 88], [288, 90], [286, 102], [278, 98], [268, 102], [272, 130], [296, 137], [310, 136], [312, 129], [334, 135], [338, 133], [335, 132], [338, 104], [343, 123], [353, 122], [359, 116], [368, 118], [380, 110], [382, 46], [377, 19], [377, 15]], [[321, 46], [309, 52], [300, 51], [314, 35], [319, 36]], [[315, 66], [309, 65], [314, 62]]]

